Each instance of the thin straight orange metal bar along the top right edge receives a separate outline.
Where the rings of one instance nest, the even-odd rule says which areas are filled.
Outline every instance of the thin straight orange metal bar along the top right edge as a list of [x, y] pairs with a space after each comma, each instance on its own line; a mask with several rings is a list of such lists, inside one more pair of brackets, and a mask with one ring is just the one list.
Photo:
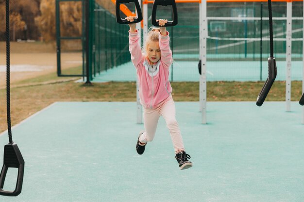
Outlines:
[[[224, 2], [267, 2], [268, 0], [207, 0], [207, 3], [224, 3]], [[276, 2], [292, 2], [303, 0], [271, 0]], [[153, 3], [154, 0], [143, 0], [143, 4]], [[201, 3], [202, 0], [175, 0], [176, 3]]]

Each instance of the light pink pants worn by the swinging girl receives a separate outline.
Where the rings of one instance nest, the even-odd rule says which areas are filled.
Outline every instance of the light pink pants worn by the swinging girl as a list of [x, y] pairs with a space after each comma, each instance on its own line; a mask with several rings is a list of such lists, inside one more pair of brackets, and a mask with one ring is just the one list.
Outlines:
[[139, 141], [146, 143], [154, 139], [160, 116], [163, 116], [166, 121], [175, 154], [185, 151], [181, 131], [175, 118], [175, 104], [172, 96], [156, 109], [144, 108], [145, 132], [140, 136]]

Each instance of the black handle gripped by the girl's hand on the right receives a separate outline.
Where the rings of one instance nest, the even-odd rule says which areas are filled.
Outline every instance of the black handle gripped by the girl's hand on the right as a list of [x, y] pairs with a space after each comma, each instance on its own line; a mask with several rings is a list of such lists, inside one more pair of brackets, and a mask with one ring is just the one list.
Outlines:
[[158, 21], [156, 21], [156, 12], [157, 12], [157, 6], [172, 6], [172, 12], [173, 12], [173, 19], [172, 21], [168, 21], [163, 27], [172, 27], [177, 25], [177, 8], [175, 0], [154, 0], [153, 7], [152, 7], [152, 25], [155, 27], [159, 27]]

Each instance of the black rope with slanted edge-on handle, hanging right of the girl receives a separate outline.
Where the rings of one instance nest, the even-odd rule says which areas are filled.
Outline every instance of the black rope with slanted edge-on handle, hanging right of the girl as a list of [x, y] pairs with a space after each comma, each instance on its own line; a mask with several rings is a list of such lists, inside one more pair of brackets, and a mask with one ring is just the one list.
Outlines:
[[269, 93], [271, 86], [277, 76], [277, 68], [275, 58], [273, 57], [273, 32], [272, 32], [272, 8], [271, 0], [268, 0], [268, 12], [269, 12], [269, 35], [270, 35], [270, 57], [268, 58], [268, 78], [265, 81], [261, 92], [256, 98], [256, 105], [262, 106], [267, 94]]

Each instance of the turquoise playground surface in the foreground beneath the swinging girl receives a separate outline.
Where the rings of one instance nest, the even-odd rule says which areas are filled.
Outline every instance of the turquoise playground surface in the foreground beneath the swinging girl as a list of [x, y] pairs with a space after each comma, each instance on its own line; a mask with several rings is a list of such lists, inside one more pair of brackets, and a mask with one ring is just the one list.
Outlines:
[[[143, 155], [135, 102], [56, 102], [13, 127], [22, 192], [1, 202], [303, 202], [304, 124], [298, 102], [176, 102], [193, 167], [180, 171], [160, 118]], [[0, 154], [8, 142], [0, 136]], [[2, 161], [2, 157], [0, 161]], [[16, 171], [4, 188], [14, 190]]]

